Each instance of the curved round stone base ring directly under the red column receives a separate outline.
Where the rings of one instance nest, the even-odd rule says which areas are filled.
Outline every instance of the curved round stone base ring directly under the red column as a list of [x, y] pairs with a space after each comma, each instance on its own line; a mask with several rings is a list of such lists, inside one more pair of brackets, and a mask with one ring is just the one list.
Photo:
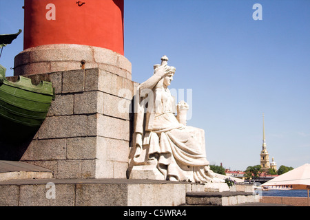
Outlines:
[[57, 44], [32, 47], [14, 58], [14, 76], [45, 74], [73, 69], [101, 68], [131, 80], [132, 64], [112, 50], [88, 45]]

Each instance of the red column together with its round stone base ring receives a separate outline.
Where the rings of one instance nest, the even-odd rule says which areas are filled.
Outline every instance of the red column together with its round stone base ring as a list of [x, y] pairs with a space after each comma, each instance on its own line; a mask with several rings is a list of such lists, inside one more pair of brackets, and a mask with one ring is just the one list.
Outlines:
[[24, 1], [24, 45], [14, 76], [100, 68], [131, 79], [124, 0]]

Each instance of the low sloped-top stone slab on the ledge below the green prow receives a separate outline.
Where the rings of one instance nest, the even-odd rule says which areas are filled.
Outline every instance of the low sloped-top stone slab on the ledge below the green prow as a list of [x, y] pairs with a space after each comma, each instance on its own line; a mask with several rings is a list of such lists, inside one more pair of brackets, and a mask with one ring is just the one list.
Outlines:
[[25, 162], [0, 160], [0, 181], [12, 179], [48, 179], [52, 170], [27, 164]]

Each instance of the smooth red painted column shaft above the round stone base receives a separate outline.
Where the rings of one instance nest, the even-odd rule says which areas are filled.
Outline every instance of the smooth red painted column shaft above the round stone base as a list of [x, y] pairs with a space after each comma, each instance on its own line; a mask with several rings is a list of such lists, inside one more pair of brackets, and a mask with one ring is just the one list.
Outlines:
[[23, 49], [50, 44], [124, 54], [124, 0], [25, 0]]

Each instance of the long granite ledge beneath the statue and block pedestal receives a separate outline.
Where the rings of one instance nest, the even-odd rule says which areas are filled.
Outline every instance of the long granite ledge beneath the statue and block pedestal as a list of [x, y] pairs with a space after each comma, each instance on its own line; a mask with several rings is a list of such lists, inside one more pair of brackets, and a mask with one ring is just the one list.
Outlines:
[[[48, 183], [54, 184], [54, 199], [46, 197]], [[0, 206], [180, 206], [186, 192], [203, 190], [196, 185], [149, 179], [11, 180], [0, 182]]]

